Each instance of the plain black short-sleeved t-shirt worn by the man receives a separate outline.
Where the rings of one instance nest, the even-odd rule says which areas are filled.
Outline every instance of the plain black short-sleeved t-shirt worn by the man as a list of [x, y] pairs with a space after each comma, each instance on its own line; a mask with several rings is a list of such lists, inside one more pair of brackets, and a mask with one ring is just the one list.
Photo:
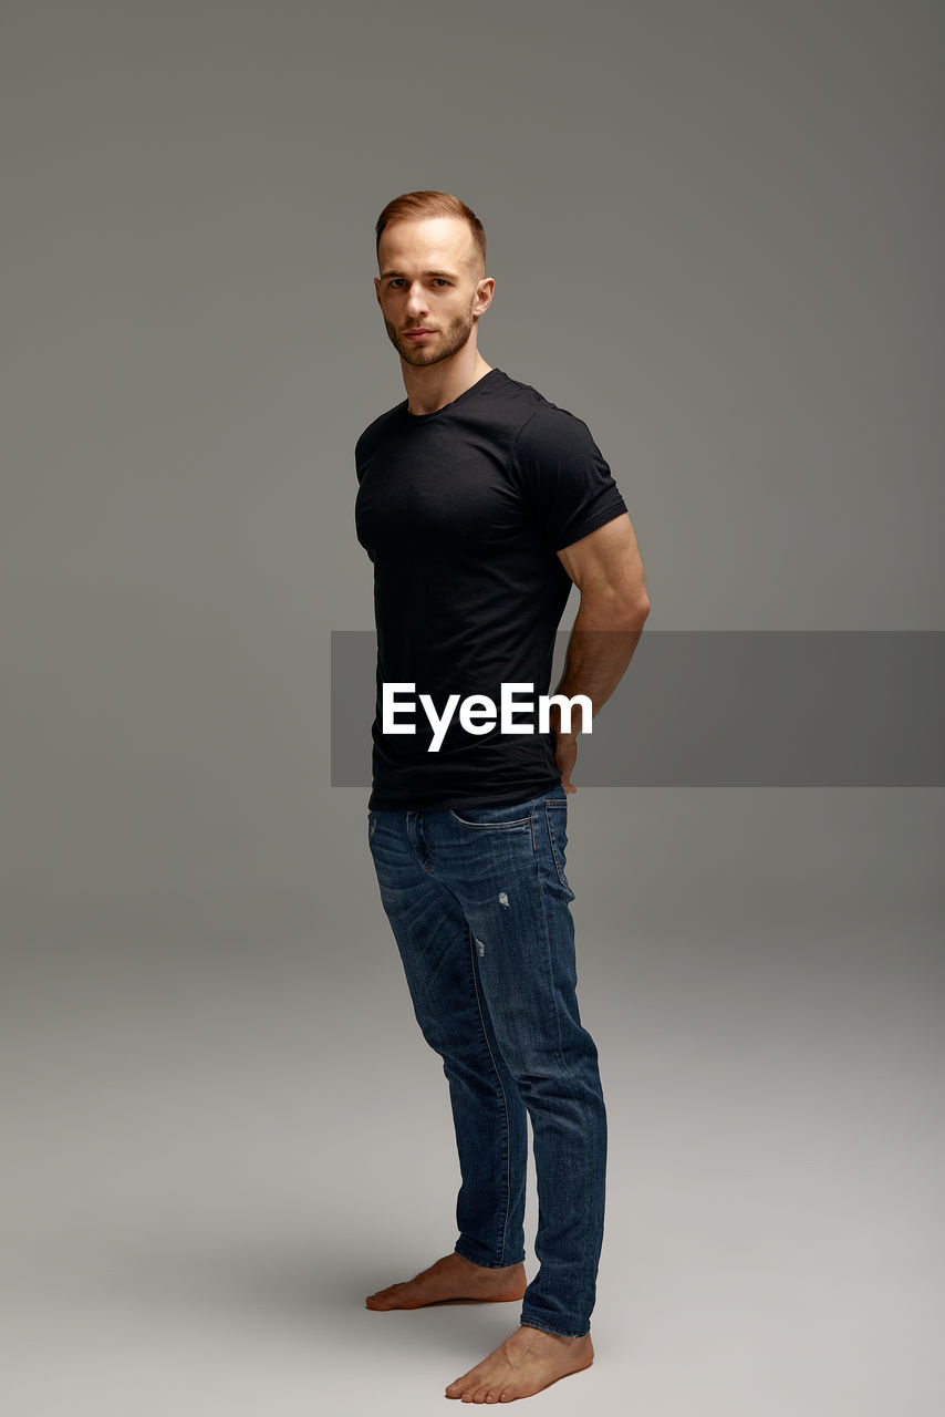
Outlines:
[[[451, 694], [503, 683], [550, 693], [554, 635], [571, 581], [555, 551], [626, 512], [611, 469], [574, 414], [492, 368], [452, 404], [381, 414], [354, 451], [357, 538], [374, 563], [375, 811], [500, 805], [561, 781], [554, 735], [534, 713], [472, 734], [459, 711], [438, 751], [419, 696], [442, 714]], [[383, 684], [412, 683], [415, 734], [383, 733]], [[482, 721], [482, 720], [480, 720]], [[579, 724], [579, 717], [578, 717]]]

